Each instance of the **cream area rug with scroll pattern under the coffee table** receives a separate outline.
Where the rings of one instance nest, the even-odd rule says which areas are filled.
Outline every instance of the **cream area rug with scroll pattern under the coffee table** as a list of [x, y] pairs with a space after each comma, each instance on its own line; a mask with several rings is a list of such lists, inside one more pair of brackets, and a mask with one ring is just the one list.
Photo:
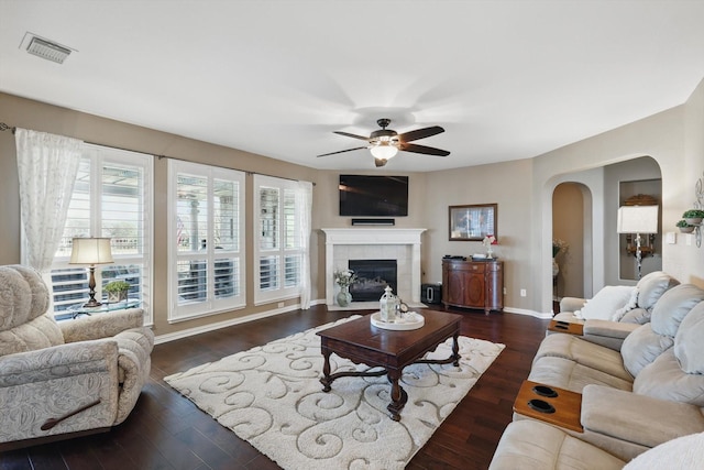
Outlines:
[[[322, 392], [316, 331], [353, 316], [164, 380], [284, 469], [403, 469], [491, 365], [504, 345], [460, 337], [460, 367], [413, 364], [408, 403], [389, 417], [386, 376], [342, 378]], [[452, 339], [430, 353], [450, 357]], [[332, 373], [366, 370], [337, 354]]]

